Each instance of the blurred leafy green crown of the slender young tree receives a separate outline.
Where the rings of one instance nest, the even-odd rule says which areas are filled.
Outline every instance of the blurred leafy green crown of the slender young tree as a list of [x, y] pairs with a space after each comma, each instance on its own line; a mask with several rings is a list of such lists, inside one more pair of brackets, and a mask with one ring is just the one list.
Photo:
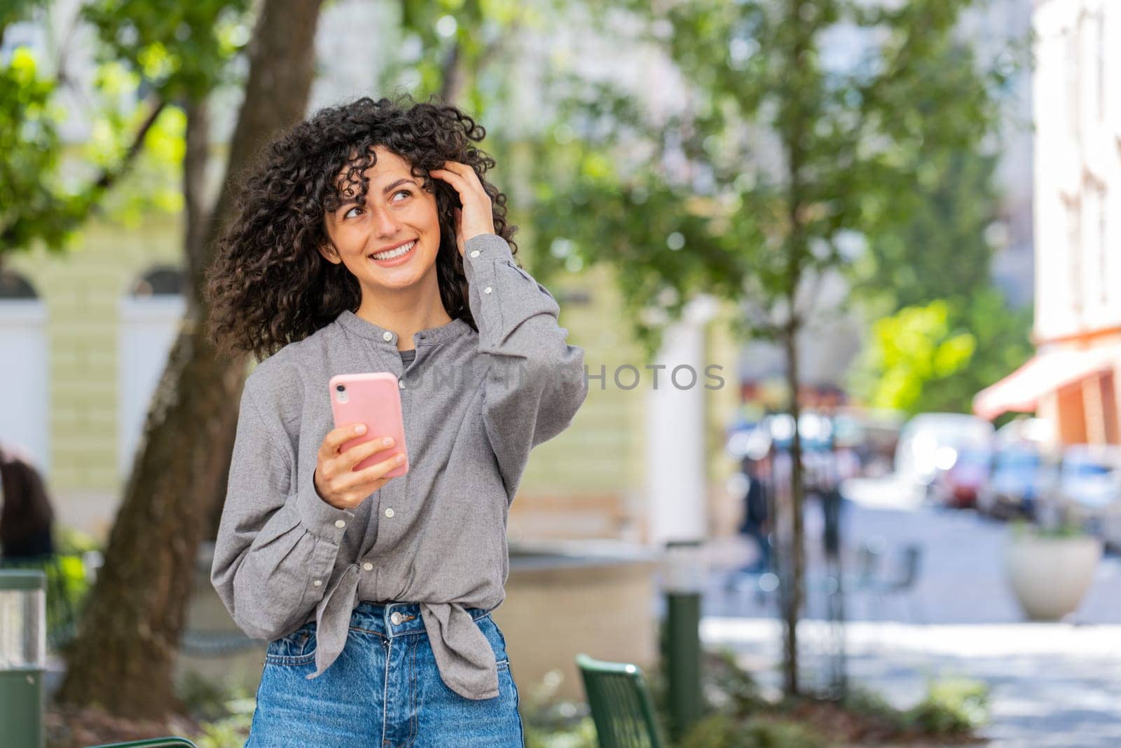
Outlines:
[[[830, 313], [821, 278], [853, 262], [854, 238], [896, 243], [916, 185], [954, 178], [952, 158], [929, 155], [975, 150], [1010, 77], [955, 40], [970, 0], [623, 4], [634, 44], [669, 54], [688, 101], [658, 118], [631, 91], [556, 72], [571, 93], [532, 164], [535, 236], [557, 265], [614, 266], [651, 352], [702, 293], [740, 305], [744, 336]], [[877, 273], [898, 270], [888, 249], [879, 259]]]

